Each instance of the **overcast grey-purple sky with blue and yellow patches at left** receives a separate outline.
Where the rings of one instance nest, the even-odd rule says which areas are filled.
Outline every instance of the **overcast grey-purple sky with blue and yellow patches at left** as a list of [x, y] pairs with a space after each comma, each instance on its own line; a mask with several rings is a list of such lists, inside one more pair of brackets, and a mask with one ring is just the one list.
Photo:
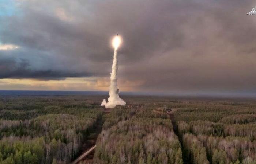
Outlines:
[[0, 0], [0, 89], [256, 95], [252, 0]]

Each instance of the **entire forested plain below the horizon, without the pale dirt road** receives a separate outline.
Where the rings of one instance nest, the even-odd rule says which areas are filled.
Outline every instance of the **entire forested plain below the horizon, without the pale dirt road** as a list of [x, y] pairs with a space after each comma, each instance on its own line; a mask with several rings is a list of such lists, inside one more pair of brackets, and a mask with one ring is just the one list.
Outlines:
[[[254, 99], [124, 96], [0, 97], [0, 163], [255, 164]], [[171, 108], [166, 113], [163, 106]]]

